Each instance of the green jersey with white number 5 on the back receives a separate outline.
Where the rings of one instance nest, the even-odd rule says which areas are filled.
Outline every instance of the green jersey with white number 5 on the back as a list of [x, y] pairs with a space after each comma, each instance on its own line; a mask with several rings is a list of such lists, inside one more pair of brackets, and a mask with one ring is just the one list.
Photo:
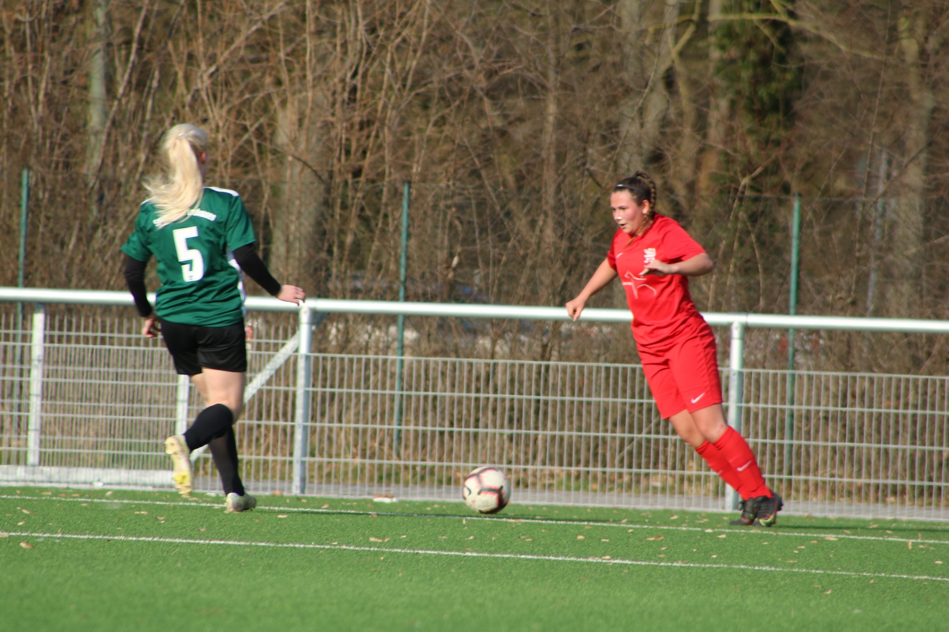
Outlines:
[[195, 208], [158, 227], [158, 208], [145, 200], [135, 232], [121, 251], [132, 259], [158, 260], [155, 313], [182, 325], [225, 327], [244, 317], [244, 286], [233, 250], [253, 244], [251, 218], [233, 190], [205, 187]]

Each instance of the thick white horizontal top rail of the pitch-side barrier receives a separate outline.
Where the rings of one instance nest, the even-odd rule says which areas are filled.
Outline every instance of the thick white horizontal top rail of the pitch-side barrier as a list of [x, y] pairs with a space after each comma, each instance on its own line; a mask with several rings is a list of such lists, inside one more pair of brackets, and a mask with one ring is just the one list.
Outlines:
[[[149, 295], [155, 300], [155, 295]], [[70, 305], [133, 306], [127, 292], [105, 290], [47, 290], [40, 288], [0, 287], [0, 302], [52, 303]], [[467, 303], [423, 303], [394, 300], [344, 300], [307, 298], [313, 312], [327, 314], [376, 314], [388, 316], [448, 316], [460, 318], [511, 318], [518, 320], [569, 320], [563, 307], [521, 305], [472, 305]], [[297, 312], [299, 307], [277, 298], [248, 297], [247, 308], [256, 312]], [[904, 334], [949, 334], [949, 320], [921, 318], [865, 318], [857, 316], [787, 316], [781, 314], [743, 314], [708, 312], [702, 314], [710, 325], [728, 327], [738, 324], [759, 329], [843, 330], [851, 332], [902, 332]], [[627, 310], [584, 310], [583, 322], [628, 323]]]

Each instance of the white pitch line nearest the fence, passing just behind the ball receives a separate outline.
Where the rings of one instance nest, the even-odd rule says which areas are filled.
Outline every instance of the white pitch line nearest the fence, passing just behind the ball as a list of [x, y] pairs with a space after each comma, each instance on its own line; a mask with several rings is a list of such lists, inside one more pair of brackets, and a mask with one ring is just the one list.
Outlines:
[[[117, 498], [113, 500], [112, 498], [62, 498], [62, 497], [31, 497], [31, 496], [3, 496], [0, 495], [0, 499], [21, 499], [21, 500], [60, 500], [60, 501], [71, 501], [71, 502], [115, 502], [126, 505], [166, 505], [172, 507], [213, 507], [214, 509], [221, 509], [224, 507], [224, 504], [212, 503], [212, 502], [172, 502], [172, 501], [162, 501], [162, 500], [126, 500], [122, 498]], [[923, 540], [921, 538], [905, 538], [905, 537], [881, 537], [877, 535], [849, 535], [847, 533], [799, 533], [799, 532], [785, 532], [785, 531], [762, 531], [760, 529], [702, 529], [701, 527], [662, 527], [660, 525], [640, 525], [640, 524], [623, 524], [621, 522], [592, 522], [592, 521], [582, 521], [582, 520], [553, 520], [548, 518], [507, 518], [502, 516], [491, 516], [491, 515], [444, 515], [444, 514], [406, 514], [399, 512], [366, 512], [366, 511], [357, 511], [354, 509], [316, 509], [310, 507], [270, 507], [266, 505], [258, 505], [255, 511], [273, 511], [273, 512], [296, 512], [300, 514], [346, 514], [346, 515], [391, 515], [391, 516], [421, 516], [424, 515], [428, 518], [464, 518], [465, 520], [485, 520], [485, 521], [497, 521], [497, 522], [528, 522], [533, 524], [549, 524], [549, 525], [576, 525], [580, 527], [591, 526], [591, 527], [620, 527], [623, 529], [656, 529], [660, 531], [684, 531], [684, 532], [702, 532], [702, 533], [756, 533], [759, 535], [774, 535], [774, 536], [784, 536], [791, 535], [793, 537], [819, 537], [827, 538], [834, 537], [838, 540], [866, 540], [873, 542], [921, 542], [922, 544], [949, 544], [949, 540]], [[919, 532], [918, 532], [919, 533]]]

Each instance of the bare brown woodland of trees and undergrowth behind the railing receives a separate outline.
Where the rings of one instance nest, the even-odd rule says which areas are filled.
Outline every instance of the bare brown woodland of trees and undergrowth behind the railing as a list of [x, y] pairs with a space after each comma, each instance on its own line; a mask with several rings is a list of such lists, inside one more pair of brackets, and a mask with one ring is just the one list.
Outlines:
[[[410, 179], [410, 300], [563, 304], [605, 255], [608, 190], [644, 169], [716, 260], [699, 309], [788, 312], [800, 195], [798, 313], [949, 317], [946, 0], [0, 8], [5, 285], [28, 167], [27, 285], [123, 289], [141, 179], [191, 121], [209, 184], [242, 193], [265, 260], [310, 296], [397, 296]], [[623, 327], [410, 320], [417, 352], [635, 358]], [[391, 341], [385, 319], [330, 322], [322, 349], [378, 351], [373, 323]], [[804, 368], [949, 370], [939, 336], [798, 345]], [[787, 339], [753, 332], [749, 351], [781, 368]]]

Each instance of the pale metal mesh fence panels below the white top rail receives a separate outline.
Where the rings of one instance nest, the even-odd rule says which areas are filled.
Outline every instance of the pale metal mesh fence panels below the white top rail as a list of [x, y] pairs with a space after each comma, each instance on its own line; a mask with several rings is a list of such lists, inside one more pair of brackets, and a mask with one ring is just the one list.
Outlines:
[[[252, 379], [295, 324], [249, 322]], [[180, 416], [178, 379], [137, 328], [119, 310], [49, 308], [37, 402], [33, 332], [0, 314], [0, 479], [170, 484], [162, 443]], [[311, 353], [307, 423], [294, 424], [301, 357], [268, 373], [236, 426], [251, 492], [294, 489], [303, 431], [307, 494], [456, 499], [465, 473], [496, 464], [515, 501], [726, 509], [723, 483], [661, 420], [639, 366]], [[788, 511], [949, 519], [949, 378], [742, 374], [742, 433]], [[192, 388], [188, 420], [199, 406]], [[219, 490], [212, 460], [195, 464], [195, 488]]]

